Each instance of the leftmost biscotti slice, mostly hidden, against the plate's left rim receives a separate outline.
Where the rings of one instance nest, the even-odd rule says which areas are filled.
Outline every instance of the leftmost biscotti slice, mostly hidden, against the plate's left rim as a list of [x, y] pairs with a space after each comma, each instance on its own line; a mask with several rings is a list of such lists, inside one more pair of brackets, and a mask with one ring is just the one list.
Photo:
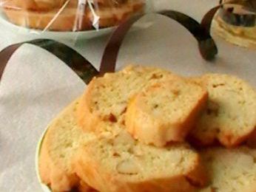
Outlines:
[[92, 188], [86, 183], [81, 185], [80, 179], [72, 168], [73, 155], [83, 142], [92, 140], [92, 134], [83, 133], [75, 120], [75, 111], [78, 100], [55, 119], [47, 129], [39, 154], [39, 174], [41, 181], [48, 185], [52, 191], [78, 191], [89, 192]]

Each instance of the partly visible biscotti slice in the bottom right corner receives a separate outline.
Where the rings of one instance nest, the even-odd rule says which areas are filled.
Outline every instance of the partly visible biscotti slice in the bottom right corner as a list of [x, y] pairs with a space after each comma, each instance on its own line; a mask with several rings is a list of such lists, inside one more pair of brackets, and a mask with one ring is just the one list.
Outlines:
[[212, 181], [207, 191], [256, 191], [255, 149], [208, 148], [201, 151], [201, 156]]

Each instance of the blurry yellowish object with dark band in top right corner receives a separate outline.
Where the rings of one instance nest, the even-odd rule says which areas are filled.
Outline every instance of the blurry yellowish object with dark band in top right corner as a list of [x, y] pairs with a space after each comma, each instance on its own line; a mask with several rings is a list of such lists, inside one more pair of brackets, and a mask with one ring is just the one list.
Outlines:
[[223, 0], [215, 17], [215, 32], [226, 41], [256, 49], [256, 1]]

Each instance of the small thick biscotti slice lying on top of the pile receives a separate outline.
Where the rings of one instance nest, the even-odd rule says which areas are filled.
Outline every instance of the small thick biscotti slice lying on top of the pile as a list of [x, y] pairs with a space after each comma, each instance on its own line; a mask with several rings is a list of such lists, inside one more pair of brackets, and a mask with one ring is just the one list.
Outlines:
[[203, 86], [184, 78], [154, 83], [130, 100], [125, 114], [127, 131], [156, 146], [184, 141], [206, 106], [207, 96]]

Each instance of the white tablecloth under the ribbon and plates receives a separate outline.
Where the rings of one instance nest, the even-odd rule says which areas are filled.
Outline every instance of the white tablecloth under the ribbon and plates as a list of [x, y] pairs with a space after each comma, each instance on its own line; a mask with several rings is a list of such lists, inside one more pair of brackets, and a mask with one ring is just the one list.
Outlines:
[[[155, 7], [181, 10], [200, 21], [217, 2], [158, 0]], [[127, 36], [118, 69], [135, 63], [164, 67], [181, 75], [225, 72], [256, 86], [255, 51], [214, 37], [219, 54], [209, 63], [203, 61], [197, 42], [183, 27], [161, 16], [155, 21], [149, 29]], [[28, 39], [2, 25], [0, 37], [0, 49]], [[79, 41], [73, 47], [98, 68], [106, 42], [105, 36]], [[34, 162], [36, 143], [50, 120], [84, 89], [84, 83], [67, 66], [43, 49], [24, 45], [13, 55], [0, 84], [0, 191], [41, 191]]]

